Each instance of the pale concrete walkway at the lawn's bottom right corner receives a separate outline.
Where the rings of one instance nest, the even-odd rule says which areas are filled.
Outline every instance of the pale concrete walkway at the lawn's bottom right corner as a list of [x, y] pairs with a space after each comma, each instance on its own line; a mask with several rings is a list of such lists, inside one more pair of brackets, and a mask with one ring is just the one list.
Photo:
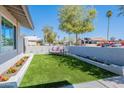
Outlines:
[[124, 88], [124, 77], [117, 76], [87, 83], [74, 84], [74, 88]]

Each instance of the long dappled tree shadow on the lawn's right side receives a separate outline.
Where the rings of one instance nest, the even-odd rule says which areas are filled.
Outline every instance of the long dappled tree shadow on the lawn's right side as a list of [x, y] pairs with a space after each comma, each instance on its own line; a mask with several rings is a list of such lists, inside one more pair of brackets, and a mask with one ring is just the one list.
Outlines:
[[[58, 66], [65, 65], [71, 70], [81, 70], [82, 72], [86, 72], [89, 75], [92, 75], [98, 79], [107, 78], [111, 76], [117, 76], [116, 74], [106, 71], [104, 69], [101, 69], [99, 67], [96, 67], [94, 65], [88, 64], [86, 62], [83, 62], [77, 58], [67, 56], [67, 55], [50, 55], [51, 57], [55, 58], [57, 62], [59, 62]], [[58, 57], [57, 57], [58, 56]]]

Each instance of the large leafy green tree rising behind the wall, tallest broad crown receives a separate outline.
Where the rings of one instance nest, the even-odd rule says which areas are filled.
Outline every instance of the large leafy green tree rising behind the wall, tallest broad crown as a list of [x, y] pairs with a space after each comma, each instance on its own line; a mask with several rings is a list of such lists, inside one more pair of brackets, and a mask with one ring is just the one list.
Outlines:
[[59, 28], [69, 34], [76, 35], [94, 30], [93, 19], [96, 17], [95, 9], [86, 9], [83, 6], [63, 6], [59, 9]]

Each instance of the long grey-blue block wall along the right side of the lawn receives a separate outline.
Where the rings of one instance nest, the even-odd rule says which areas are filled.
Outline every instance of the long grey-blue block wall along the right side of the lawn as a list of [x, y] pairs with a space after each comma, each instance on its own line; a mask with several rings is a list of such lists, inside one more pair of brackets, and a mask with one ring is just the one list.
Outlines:
[[66, 47], [72, 54], [79, 56], [96, 57], [98, 60], [109, 64], [124, 66], [124, 48], [103, 48], [103, 47]]

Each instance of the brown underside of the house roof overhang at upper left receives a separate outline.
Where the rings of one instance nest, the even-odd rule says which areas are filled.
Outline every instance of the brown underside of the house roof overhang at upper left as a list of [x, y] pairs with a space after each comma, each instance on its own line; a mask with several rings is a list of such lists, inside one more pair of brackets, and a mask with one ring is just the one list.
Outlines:
[[16, 18], [24, 27], [34, 29], [28, 7], [24, 5], [4, 5], [4, 7]]

